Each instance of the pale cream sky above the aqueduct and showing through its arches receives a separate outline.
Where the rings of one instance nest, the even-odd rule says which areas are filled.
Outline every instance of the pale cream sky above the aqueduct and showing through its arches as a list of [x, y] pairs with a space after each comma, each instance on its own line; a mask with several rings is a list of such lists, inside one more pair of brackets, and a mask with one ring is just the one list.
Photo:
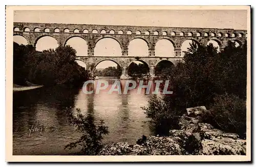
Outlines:
[[[246, 10], [19, 10], [14, 11], [15, 22], [77, 23], [89, 25], [126, 25], [126, 26], [163, 26], [163, 27], [198, 27], [247, 29]], [[18, 39], [17, 39], [18, 38]], [[56, 40], [51, 37], [41, 38], [37, 42], [38, 51], [56, 47]], [[15, 37], [14, 41], [26, 43]], [[87, 43], [80, 39], [70, 39], [67, 44], [76, 49], [77, 55], [87, 54]], [[97, 55], [120, 56], [116, 41], [106, 39], [98, 42]], [[158, 45], [156, 53], [172, 56], [172, 46], [167, 41]], [[146, 55], [148, 50], [143, 41], [131, 43], [129, 55]], [[185, 46], [186, 47], [186, 46]], [[96, 68], [116, 66], [111, 61], [103, 61]]]

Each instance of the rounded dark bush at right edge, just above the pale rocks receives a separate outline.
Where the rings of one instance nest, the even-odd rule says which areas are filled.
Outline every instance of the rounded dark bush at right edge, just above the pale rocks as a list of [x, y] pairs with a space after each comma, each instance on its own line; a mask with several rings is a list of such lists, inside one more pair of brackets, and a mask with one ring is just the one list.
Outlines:
[[217, 95], [211, 109], [202, 115], [203, 122], [225, 132], [246, 137], [246, 102], [233, 94]]

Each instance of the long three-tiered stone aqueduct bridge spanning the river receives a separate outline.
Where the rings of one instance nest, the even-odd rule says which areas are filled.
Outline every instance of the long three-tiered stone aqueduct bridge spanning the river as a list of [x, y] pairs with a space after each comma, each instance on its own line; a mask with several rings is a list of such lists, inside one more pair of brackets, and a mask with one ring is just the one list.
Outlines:
[[[102, 33], [102, 30], [104, 33]], [[181, 45], [185, 40], [195, 40], [204, 45], [209, 40], [215, 40], [220, 49], [225, 47], [227, 41], [237, 41], [243, 44], [246, 41], [246, 30], [212, 29], [212, 28], [177, 28], [177, 27], [145, 27], [145, 26], [102, 26], [102, 25], [76, 25], [62, 23], [28, 23], [14, 22], [13, 35], [25, 37], [28, 44], [36, 45], [38, 39], [44, 36], [55, 38], [59, 45], [65, 45], [72, 37], [81, 37], [87, 41], [88, 55], [77, 56], [77, 60], [86, 63], [88, 69], [93, 71], [103, 60], [112, 60], [122, 67], [122, 74], [127, 74], [127, 67], [137, 60], [137, 56], [128, 56], [128, 46], [135, 38], [143, 39], [148, 45], [148, 56], [140, 57], [150, 67], [150, 74], [154, 75], [154, 67], [162, 60], [169, 60], [175, 64], [182, 59]], [[102, 38], [113, 38], [119, 42], [122, 55], [119, 57], [94, 56], [94, 47]], [[167, 39], [173, 43], [174, 57], [156, 57], [155, 45], [160, 39]]]

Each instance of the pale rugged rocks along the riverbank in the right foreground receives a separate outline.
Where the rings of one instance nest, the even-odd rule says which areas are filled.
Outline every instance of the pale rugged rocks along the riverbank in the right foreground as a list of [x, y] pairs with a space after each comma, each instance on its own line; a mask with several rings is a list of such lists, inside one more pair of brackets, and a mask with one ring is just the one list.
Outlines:
[[246, 141], [238, 134], [224, 133], [202, 123], [204, 106], [187, 108], [180, 117], [180, 130], [170, 130], [169, 136], [143, 136], [131, 145], [118, 142], [105, 146], [99, 155], [245, 155]]

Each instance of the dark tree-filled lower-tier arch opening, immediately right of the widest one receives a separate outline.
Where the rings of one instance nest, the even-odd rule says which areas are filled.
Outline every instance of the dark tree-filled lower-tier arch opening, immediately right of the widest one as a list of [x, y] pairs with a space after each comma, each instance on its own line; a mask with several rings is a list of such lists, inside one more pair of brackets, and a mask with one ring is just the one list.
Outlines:
[[149, 72], [150, 67], [142, 60], [133, 61], [128, 67], [128, 75], [133, 78], [141, 78]]

